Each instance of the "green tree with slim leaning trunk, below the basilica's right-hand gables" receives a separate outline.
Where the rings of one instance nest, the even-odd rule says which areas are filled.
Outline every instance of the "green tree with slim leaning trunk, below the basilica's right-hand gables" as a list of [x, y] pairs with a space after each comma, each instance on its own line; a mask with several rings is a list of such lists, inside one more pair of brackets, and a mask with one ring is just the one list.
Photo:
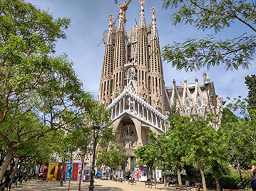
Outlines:
[[203, 165], [210, 158], [217, 155], [216, 148], [218, 147], [215, 138], [217, 132], [210, 126], [213, 123], [212, 118], [208, 116], [204, 119], [203, 116], [182, 116], [183, 120], [174, 120], [173, 126], [176, 131], [183, 133], [183, 140], [185, 140], [185, 155], [181, 156], [181, 161], [191, 164], [198, 164], [200, 175], [203, 182], [203, 190], [206, 191], [205, 173]]

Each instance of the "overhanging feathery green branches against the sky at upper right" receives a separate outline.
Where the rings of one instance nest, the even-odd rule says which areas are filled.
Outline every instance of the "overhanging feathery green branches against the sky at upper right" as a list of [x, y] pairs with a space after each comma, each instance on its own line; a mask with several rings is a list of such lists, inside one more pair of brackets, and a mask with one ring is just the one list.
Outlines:
[[255, 53], [255, 17], [254, 1], [237, 0], [162, 0], [165, 9], [175, 11], [173, 24], [184, 22], [198, 30], [213, 28], [215, 33], [242, 23], [252, 33], [241, 33], [232, 39], [218, 40], [215, 35], [203, 38], [189, 38], [184, 43], [165, 45], [163, 59], [171, 62], [178, 70], [199, 70], [202, 67], [224, 65], [227, 70], [248, 68]]

